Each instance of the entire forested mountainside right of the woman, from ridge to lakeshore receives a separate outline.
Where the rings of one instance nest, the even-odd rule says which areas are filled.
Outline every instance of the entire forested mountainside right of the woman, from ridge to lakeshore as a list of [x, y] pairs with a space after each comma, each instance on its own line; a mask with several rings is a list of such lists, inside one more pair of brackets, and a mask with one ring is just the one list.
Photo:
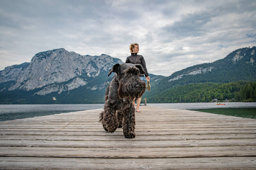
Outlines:
[[211, 63], [185, 68], [163, 78], [143, 97], [148, 103], [255, 100], [256, 47], [237, 49]]

